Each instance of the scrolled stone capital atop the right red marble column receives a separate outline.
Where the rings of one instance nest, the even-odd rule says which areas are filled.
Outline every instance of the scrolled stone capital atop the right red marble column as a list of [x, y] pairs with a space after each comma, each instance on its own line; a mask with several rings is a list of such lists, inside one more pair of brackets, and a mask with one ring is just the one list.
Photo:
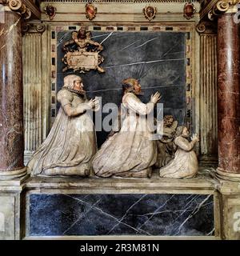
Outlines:
[[220, 0], [208, 12], [208, 18], [213, 21], [221, 14], [236, 13], [238, 12], [238, 4], [240, 4], [240, 0]]

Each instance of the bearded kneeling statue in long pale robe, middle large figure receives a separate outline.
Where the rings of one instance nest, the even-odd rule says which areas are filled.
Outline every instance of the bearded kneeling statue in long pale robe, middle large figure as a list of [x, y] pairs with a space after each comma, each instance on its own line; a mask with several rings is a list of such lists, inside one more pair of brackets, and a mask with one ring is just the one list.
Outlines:
[[156, 162], [157, 147], [146, 118], [160, 100], [157, 92], [144, 104], [138, 98], [141, 86], [138, 80], [127, 78], [122, 82], [122, 108], [125, 110], [121, 127], [110, 136], [94, 156], [94, 173], [99, 177], [150, 178]]

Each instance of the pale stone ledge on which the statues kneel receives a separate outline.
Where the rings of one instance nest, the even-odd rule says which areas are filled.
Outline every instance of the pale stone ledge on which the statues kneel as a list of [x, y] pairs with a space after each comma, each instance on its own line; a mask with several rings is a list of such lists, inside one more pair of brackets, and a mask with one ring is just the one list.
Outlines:
[[[206, 170], [196, 178], [160, 178], [154, 173], [151, 178], [43, 178], [31, 177], [26, 181], [27, 190], [86, 190], [88, 193], [189, 193], [190, 191], [213, 193], [219, 182]], [[39, 191], [38, 191], [39, 192]], [[81, 193], [81, 192], [80, 192]]]

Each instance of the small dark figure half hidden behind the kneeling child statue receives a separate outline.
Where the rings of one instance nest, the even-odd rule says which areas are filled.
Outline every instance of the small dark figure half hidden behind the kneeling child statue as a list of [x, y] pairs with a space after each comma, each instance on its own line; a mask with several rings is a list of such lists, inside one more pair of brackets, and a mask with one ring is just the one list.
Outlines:
[[155, 166], [161, 168], [166, 166], [174, 158], [176, 146], [174, 145], [174, 135], [178, 127], [178, 121], [172, 115], [163, 118], [162, 138], [157, 141], [158, 157]]

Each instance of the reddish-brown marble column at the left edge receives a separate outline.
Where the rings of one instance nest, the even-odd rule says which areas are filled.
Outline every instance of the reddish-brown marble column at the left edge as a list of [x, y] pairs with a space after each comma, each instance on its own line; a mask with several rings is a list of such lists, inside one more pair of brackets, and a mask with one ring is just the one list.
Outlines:
[[25, 174], [21, 16], [2, 13], [0, 22], [0, 179]]

